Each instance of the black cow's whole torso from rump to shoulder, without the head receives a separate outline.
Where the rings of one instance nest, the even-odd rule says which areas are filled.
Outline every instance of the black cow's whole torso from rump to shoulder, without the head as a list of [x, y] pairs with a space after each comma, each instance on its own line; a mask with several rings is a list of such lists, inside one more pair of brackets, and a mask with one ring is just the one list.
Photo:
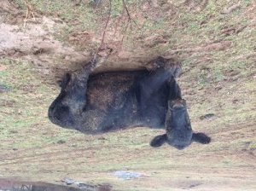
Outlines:
[[[61, 95], [56, 98], [49, 107], [49, 119], [61, 127], [84, 133], [96, 134], [136, 126], [164, 129], [167, 102], [180, 97], [173, 71], [165, 71], [164, 68], [154, 72], [140, 70], [91, 74], [84, 82], [86, 86], [82, 84], [79, 87], [86, 91], [81, 90], [81, 93], [70, 87], [70, 92], [67, 92], [68, 85], [79, 84], [74, 83], [79, 80], [76, 78], [79, 78], [78, 75], [72, 77], [67, 74], [62, 80], [62, 84], [67, 84], [66, 87], [62, 85], [61, 94], [66, 94], [69, 99]], [[80, 112], [72, 111], [77, 104], [75, 97], [84, 100]]]

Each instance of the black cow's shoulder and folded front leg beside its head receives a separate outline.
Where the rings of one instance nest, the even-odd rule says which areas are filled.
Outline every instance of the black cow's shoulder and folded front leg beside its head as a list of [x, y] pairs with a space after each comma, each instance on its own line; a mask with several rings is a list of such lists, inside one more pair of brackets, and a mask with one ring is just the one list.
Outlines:
[[[137, 101], [139, 113], [146, 124], [163, 127], [167, 110], [167, 101], [181, 96], [175, 78], [180, 67], [159, 67], [148, 73], [137, 83]], [[175, 91], [174, 91], [175, 90]]]

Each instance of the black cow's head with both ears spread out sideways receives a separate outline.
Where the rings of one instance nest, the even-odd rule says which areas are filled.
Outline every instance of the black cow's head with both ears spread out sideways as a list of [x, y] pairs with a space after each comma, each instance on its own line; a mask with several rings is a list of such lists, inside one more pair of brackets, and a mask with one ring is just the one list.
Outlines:
[[194, 133], [192, 131], [186, 101], [183, 99], [168, 102], [166, 134], [155, 136], [150, 145], [158, 148], [165, 142], [177, 149], [186, 148], [191, 142], [202, 144], [211, 142], [211, 138], [204, 133]]

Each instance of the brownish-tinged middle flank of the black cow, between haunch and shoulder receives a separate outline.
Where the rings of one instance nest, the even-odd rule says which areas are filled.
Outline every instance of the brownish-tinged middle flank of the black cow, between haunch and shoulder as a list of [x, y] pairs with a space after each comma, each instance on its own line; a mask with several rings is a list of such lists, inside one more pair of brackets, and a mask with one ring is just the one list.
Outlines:
[[80, 130], [101, 133], [135, 124], [135, 86], [145, 75], [148, 75], [146, 70], [90, 75]]

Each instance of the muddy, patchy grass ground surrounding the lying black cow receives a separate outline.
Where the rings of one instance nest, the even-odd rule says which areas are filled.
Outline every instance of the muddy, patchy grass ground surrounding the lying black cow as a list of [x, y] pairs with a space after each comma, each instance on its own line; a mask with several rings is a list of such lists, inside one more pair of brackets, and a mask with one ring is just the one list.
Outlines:
[[[125, 5], [129, 15], [112, 1], [108, 20], [103, 0], [0, 2], [1, 178], [65, 185], [68, 177], [113, 190], [255, 190], [256, 3]], [[148, 143], [162, 130], [87, 136], [50, 124], [56, 81], [91, 59], [104, 31], [111, 54], [96, 72], [147, 67], [158, 55], [182, 63], [178, 83], [192, 127], [212, 136], [209, 145], [156, 149]], [[142, 176], [123, 180], [116, 171]]]

